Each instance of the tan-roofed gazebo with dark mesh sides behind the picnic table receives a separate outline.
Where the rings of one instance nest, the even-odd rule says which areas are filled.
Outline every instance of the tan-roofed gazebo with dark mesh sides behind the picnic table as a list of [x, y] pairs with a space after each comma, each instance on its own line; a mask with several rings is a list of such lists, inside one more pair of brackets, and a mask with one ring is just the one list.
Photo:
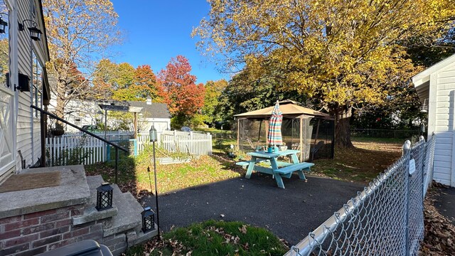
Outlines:
[[[237, 147], [242, 150], [257, 149], [267, 146], [269, 119], [274, 106], [235, 114], [237, 119]], [[289, 149], [300, 151], [300, 161], [312, 160], [314, 157], [333, 158], [334, 124], [329, 114], [302, 107], [299, 102], [283, 100], [279, 102], [283, 114], [282, 138]], [[263, 125], [264, 124], [264, 125]], [[253, 143], [256, 141], [257, 145]], [[312, 149], [312, 150], [311, 150]]]

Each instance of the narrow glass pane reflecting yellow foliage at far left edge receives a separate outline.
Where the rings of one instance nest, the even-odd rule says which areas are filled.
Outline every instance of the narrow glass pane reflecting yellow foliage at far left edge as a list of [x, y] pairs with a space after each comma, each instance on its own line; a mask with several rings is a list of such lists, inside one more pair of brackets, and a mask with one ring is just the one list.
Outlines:
[[[3, 0], [0, 0], [0, 18], [9, 22], [9, 10]], [[5, 33], [0, 33], [0, 86], [11, 87], [7, 83], [6, 76], [9, 74], [9, 26], [5, 27]]]

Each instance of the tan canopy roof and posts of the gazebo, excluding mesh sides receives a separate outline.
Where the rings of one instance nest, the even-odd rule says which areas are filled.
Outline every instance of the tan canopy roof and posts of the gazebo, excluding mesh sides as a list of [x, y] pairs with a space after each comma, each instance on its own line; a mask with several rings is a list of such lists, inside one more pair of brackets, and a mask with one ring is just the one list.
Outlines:
[[[268, 123], [269, 119], [272, 115], [272, 110], [274, 106], [272, 107], [265, 107], [261, 110], [254, 110], [242, 114], [235, 114], [234, 117], [237, 119], [237, 147], [240, 146], [240, 139], [244, 131], [240, 129], [240, 122], [243, 120], [257, 120], [259, 121], [259, 132], [258, 134], [258, 141], [260, 134], [262, 132], [262, 124], [265, 124], [265, 133], [266, 133], [266, 138], [267, 138], [267, 132], [268, 132]], [[319, 112], [316, 110], [311, 110], [307, 107], [302, 107], [299, 102], [294, 102], [292, 100], [283, 100], [279, 102], [279, 109], [283, 113], [283, 119], [291, 119], [291, 129], [292, 129], [292, 135], [291, 137], [294, 137], [294, 120], [296, 120], [299, 124], [298, 127], [298, 134], [299, 134], [299, 149], [300, 149], [300, 161], [304, 161], [304, 151], [305, 149], [309, 150], [309, 146], [311, 146], [311, 142], [314, 140], [314, 146], [316, 146], [318, 142], [318, 137], [319, 137], [319, 126], [321, 124], [321, 121], [323, 120], [329, 120], [333, 122], [333, 118], [330, 117], [329, 114]], [[312, 127], [311, 129], [308, 129], [310, 127], [310, 120], [311, 119], [316, 119], [317, 124], [316, 124], [316, 134], [313, 137], [311, 137], [312, 134]], [[334, 130], [334, 129], [333, 129]], [[332, 137], [332, 156], [333, 157], [333, 134], [331, 134]], [[304, 146], [305, 145], [305, 146]]]

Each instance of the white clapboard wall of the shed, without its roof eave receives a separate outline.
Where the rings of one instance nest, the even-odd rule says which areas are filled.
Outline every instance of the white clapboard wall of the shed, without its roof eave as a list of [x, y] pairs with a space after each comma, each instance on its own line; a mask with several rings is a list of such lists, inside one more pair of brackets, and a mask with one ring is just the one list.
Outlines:
[[434, 149], [434, 179], [455, 186], [455, 63], [439, 70], [435, 78], [436, 110], [433, 129], [437, 140]]

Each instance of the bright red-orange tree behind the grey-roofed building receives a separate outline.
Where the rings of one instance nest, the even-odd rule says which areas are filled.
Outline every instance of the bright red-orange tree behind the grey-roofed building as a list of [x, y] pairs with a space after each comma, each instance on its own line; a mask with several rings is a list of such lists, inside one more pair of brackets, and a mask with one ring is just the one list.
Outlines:
[[188, 59], [178, 55], [158, 75], [159, 95], [175, 116], [193, 117], [204, 105], [205, 88], [190, 72]]

